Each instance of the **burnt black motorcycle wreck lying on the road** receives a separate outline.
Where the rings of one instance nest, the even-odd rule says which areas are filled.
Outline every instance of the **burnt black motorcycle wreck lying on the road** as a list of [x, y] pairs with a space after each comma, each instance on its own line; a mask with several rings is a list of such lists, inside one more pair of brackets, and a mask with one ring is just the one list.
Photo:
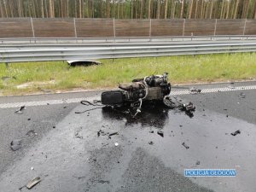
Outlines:
[[171, 84], [168, 73], [133, 79], [129, 84], [119, 84], [119, 90], [102, 92], [102, 104], [111, 108], [129, 108], [133, 117], [141, 113], [142, 105], [162, 102], [167, 108], [177, 108], [193, 116], [195, 106], [192, 102], [183, 103], [176, 96], [171, 96]]

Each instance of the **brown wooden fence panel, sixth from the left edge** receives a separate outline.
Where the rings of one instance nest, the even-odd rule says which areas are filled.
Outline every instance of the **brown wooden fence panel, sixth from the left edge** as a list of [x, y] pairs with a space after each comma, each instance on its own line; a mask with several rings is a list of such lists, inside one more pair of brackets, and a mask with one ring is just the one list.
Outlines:
[[185, 20], [185, 36], [214, 35], [216, 20]]

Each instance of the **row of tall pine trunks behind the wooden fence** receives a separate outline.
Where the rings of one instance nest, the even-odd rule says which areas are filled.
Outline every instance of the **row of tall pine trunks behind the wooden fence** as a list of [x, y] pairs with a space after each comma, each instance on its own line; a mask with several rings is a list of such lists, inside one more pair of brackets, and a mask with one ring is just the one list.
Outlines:
[[0, 17], [256, 19], [256, 0], [0, 0]]

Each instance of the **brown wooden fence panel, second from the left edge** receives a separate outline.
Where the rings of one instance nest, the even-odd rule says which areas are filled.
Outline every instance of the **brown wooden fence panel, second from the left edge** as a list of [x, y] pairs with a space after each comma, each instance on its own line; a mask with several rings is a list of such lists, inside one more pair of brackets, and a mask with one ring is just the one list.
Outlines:
[[74, 38], [73, 19], [33, 19], [36, 38]]

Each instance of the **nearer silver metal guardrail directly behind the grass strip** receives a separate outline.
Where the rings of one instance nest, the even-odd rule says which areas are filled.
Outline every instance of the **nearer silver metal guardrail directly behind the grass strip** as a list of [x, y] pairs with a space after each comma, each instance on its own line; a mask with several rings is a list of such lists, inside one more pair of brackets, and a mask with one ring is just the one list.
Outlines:
[[256, 42], [226, 44], [108, 44], [76, 47], [0, 49], [0, 62], [68, 61], [164, 55], [199, 55], [256, 51]]

